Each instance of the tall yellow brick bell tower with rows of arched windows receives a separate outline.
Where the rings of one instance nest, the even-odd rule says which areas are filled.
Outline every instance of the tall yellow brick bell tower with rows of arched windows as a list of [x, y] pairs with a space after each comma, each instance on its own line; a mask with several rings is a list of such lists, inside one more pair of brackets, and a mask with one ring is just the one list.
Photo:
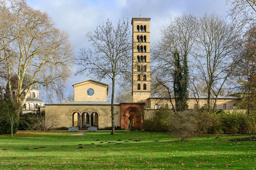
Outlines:
[[132, 18], [132, 102], [150, 96], [150, 18]]

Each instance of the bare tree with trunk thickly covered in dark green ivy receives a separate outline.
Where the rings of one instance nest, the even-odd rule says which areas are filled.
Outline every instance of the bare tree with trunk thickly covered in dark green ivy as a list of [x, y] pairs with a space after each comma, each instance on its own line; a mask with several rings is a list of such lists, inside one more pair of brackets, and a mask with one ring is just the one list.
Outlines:
[[197, 27], [195, 16], [178, 16], [164, 27], [162, 38], [153, 52], [158, 72], [155, 82], [169, 91], [168, 98], [171, 99], [170, 94], [174, 94], [177, 111], [188, 108], [188, 56], [195, 43]]

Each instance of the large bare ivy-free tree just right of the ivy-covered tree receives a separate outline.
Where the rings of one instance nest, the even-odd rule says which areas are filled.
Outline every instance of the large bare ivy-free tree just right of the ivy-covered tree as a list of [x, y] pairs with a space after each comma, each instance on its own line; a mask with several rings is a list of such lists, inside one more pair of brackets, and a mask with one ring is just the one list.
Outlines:
[[[199, 21], [197, 31], [198, 77], [207, 85], [207, 110], [214, 109], [217, 97], [231, 74], [238, 58], [235, 57], [240, 39], [235, 25], [217, 14], [205, 14]], [[214, 104], [211, 107], [211, 99]]]

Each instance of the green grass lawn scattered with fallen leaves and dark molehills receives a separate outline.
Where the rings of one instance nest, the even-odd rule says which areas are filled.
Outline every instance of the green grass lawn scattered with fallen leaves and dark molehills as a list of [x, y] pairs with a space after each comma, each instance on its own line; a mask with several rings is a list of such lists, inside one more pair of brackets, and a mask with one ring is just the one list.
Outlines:
[[228, 141], [248, 136], [202, 135], [179, 142], [168, 133], [69, 135], [74, 133], [0, 135], [0, 169], [256, 169], [256, 142]]

